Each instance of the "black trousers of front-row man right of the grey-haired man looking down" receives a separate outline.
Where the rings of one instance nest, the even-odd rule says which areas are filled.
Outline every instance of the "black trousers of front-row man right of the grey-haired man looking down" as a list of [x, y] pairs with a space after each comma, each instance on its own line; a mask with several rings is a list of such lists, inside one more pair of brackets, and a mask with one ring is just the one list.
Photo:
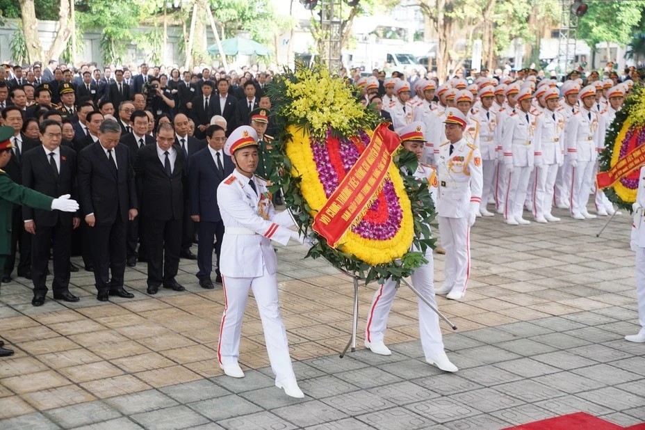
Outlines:
[[181, 219], [158, 221], [145, 219], [148, 285], [159, 286], [174, 280], [179, 270]]

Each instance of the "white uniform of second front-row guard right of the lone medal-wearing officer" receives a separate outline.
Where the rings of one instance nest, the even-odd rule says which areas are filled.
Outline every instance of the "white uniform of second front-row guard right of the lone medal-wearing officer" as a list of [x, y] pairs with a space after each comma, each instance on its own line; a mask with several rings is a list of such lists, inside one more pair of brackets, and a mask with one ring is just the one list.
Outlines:
[[500, 139], [508, 177], [504, 197], [504, 219], [507, 221], [522, 218], [528, 181], [534, 165], [536, 121], [537, 118], [532, 113], [516, 109], [504, 122]]

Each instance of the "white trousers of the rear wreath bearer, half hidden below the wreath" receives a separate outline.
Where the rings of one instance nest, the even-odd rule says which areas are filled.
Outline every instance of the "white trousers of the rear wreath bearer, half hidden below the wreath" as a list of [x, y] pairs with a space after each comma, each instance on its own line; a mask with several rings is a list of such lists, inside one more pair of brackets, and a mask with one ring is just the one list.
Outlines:
[[[436, 298], [434, 296], [434, 260], [432, 259], [432, 250], [428, 249], [425, 253], [427, 264], [414, 270], [411, 281], [412, 286], [420, 292], [427, 301], [432, 303], [436, 309]], [[402, 287], [405, 288], [405, 287]], [[376, 290], [370, 305], [367, 326], [365, 328], [365, 339], [368, 342], [378, 342], [383, 340], [387, 328], [387, 316], [392, 307], [394, 296], [396, 295], [396, 282], [387, 280]], [[430, 309], [421, 298], [417, 297], [419, 310], [419, 333], [421, 333], [421, 346], [426, 357], [434, 356], [439, 351], [443, 351], [443, 340], [441, 338], [441, 328], [439, 328], [439, 315]]]

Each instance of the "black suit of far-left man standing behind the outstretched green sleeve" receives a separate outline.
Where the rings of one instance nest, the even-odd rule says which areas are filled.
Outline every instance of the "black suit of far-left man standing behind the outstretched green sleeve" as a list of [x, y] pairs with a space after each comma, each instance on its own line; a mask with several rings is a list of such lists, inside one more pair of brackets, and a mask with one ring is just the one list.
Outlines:
[[[24, 134], [22, 136], [22, 150], [20, 157], [15, 154], [11, 156], [9, 162], [3, 170], [9, 175], [11, 180], [16, 184], [22, 184], [22, 157], [24, 154], [37, 146], [38, 141], [32, 141]], [[13, 138], [10, 139], [13, 143]], [[19, 205], [13, 205], [13, 214], [11, 218], [11, 253], [7, 256], [4, 264], [4, 276], [10, 276], [13, 272], [16, 261], [17, 249], [20, 250], [20, 262], [18, 264], [18, 274], [23, 276], [31, 270], [31, 234], [24, 230], [22, 222], [22, 209]]]

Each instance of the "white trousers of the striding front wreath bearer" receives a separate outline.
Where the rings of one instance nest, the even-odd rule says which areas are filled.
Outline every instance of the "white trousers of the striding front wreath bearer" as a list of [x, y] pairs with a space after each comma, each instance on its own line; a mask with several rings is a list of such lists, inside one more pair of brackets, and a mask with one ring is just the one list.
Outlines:
[[252, 289], [260, 311], [264, 341], [275, 379], [276, 381], [284, 381], [295, 378], [289, 356], [286, 330], [280, 314], [275, 273], [270, 275], [265, 271], [263, 276], [259, 278], [222, 276], [222, 285], [224, 285], [224, 314], [222, 315], [218, 342], [220, 364], [229, 365], [238, 362], [242, 319], [249, 297], [249, 289]]

